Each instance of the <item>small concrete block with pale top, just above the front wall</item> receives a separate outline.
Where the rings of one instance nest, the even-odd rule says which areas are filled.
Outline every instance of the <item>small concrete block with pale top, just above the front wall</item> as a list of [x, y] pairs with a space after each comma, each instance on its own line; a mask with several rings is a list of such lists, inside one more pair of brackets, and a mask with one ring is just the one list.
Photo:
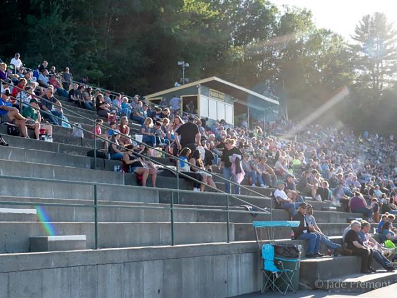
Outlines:
[[87, 249], [85, 235], [39, 236], [29, 238], [29, 251], [65, 251]]

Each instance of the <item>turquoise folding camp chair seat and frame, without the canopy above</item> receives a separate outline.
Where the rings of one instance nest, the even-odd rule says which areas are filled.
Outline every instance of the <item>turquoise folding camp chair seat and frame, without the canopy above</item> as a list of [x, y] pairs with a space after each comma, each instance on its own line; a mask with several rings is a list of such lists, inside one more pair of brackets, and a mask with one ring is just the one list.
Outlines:
[[[282, 295], [285, 295], [288, 289], [291, 289], [296, 293], [292, 279], [295, 273], [299, 270], [300, 258], [287, 259], [281, 258], [275, 255], [274, 244], [264, 244], [261, 250], [262, 255], [262, 286], [261, 292], [265, 292], [268, 289], [273, 291], [277, 290]], [[294, 263], [292, 269], [284, 268], [283, 262]], [[285, 286], [285, 289], [281, 289], [281, 285]], [[277, 285], [278, 284], [278, 285]]]

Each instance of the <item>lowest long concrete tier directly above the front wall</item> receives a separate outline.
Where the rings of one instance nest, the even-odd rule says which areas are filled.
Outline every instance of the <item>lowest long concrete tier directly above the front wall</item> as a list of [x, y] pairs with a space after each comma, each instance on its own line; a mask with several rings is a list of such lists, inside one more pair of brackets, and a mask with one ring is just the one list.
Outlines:
[[[2, 222], [0, 253], [29, 251], [29, 237], [55, 235], [86, 235], [87, 248], [95, 246], [93, 222]], [[234, 224], [229, 224], [230, 241], [234, 241]], [[175, 222], [175, 244], [226, 242], [225, 223]], [[158, 246], [171, 244], [169, 222], [100, 222], [98, 239], [101, 248]]]

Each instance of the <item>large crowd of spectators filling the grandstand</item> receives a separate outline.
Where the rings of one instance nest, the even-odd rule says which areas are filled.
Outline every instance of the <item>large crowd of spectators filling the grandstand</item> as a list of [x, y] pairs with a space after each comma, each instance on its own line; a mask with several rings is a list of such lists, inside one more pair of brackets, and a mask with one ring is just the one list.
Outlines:
[[[57, 93], [80, 108], [97, 112], [93, 132], [105, 140], [109, 157], [121, 160], [123, 171], [137, 174], [141, 185], [146, 186], [151, 177], [152, 186], [156, 186], [158, 170], [142, 157], [154, 156], [150, 147], [156, 147], [180, 158], [176, 166], [185, 179], [194, 179], [194, 191], [206, 191], [206, 185], [216, 189], [215, 168], [222, 170], [227, 193], [240, 194], [241, 183], [275, 188], [277, 206], [300, 221], [294, 237], [309, 241], [308, 257], [323, 256], [321, 243], [333, 255], [342, 251], [342, 246], [321, 231], [313, 207], [306, 203], [308, 199], [330, 201], [366, 220], [353, 222], [344, 237], [344, 249], [362, 257], [362, 272], [373, 271], [372, 258], [391, 270], [393, 264], [384, 256], [387, 251], [368, 233], [370, 223], [378, 222], [382, 214], [380, 241], [396, 243], [392, 223], [397, 214], [397, 148], [392, 135], [356, 134], [320, 125], [300, 128], [281, 120], [268, 124], [267, 129], [273, 135], [293, 132], [295, 138], [273, 137], [259, 126], [233, 127], [225, 121], [182, 112], [179, 97], [169, 102], [163, 99], [154, 106], [138, 95], [129, 98], [91, 88], [87, 77], [75, 83], [68, 67], [57, 73], [55, 66], [48, 69], [43, 61], [31, 70], [23, 66], [19, 54], [11, 64], [0, 64], [0, 116], [2, 122], [17, 125], [22, 136], [27, 137], [27, 129], [33, 129], [38, 139], [41, 133], [51, 135], [52, 125], [63, 125], [62, 104], [54, 97]], [[133, 138], [129, 137], [131, 121], [140, 125]], [[110, 127], [108, 132], [103, 131], [104, 122]], [[3, 142], [0, 138], [0, 145], [5, 145]]]

